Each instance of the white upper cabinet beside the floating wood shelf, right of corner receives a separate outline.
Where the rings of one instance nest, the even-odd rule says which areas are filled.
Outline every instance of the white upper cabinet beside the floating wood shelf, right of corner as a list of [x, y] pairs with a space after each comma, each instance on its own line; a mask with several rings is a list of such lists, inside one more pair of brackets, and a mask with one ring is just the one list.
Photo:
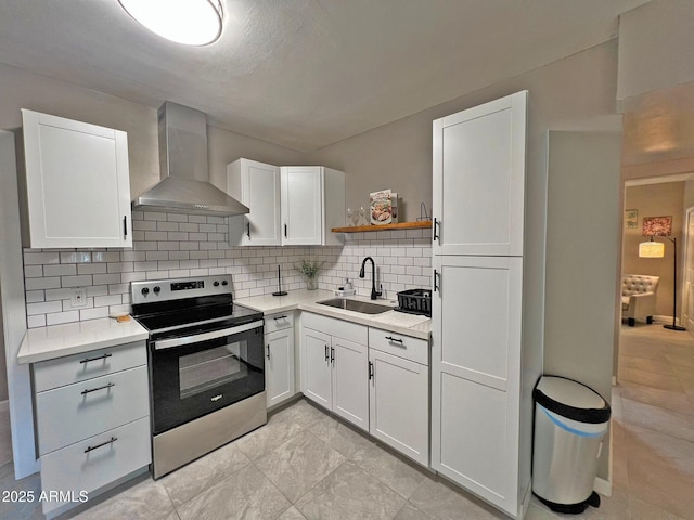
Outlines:
[[282, 167], [282, 245], [339, 245], [345, 225], [345, 174], [322, 166]]

